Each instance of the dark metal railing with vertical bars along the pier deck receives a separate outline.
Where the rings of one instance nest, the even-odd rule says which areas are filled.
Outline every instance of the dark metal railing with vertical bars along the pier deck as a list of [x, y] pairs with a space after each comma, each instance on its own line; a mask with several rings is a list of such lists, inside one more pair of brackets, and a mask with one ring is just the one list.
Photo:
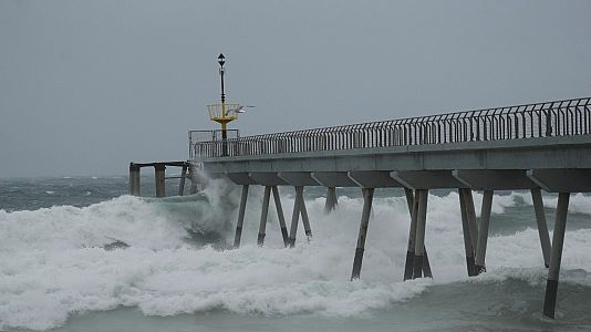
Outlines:
[[191, 158], [589, 135], [591, 97], [191, 143]]

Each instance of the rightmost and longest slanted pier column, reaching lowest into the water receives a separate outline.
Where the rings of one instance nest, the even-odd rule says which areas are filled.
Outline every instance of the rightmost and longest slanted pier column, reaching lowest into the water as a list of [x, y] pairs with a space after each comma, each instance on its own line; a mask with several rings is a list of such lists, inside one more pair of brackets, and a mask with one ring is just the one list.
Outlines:
[[564, 243], [564, 231], [567, 229], [567, 214], [569, 210], [570, 193], [558, 194], [558, 206], [556, 211], [554, 234], [552, 236], [552, 252], [550, 255], [550, 268], [548, 269], [548, 281], [546, 283], [546, 297], [543, 299], [543, 314], [554, 318], [556, 298], [558, 293], [558, 277], [560, 274], [560, 262], [562, 260], [562, 246]]

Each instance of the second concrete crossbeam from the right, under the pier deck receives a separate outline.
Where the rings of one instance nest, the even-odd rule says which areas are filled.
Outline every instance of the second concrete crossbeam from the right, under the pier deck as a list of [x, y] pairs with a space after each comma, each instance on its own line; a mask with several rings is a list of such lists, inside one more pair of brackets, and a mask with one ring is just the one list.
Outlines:
[[455, 169], [452, 175], [474, 190], [532, 189], [532, 183], [525, 169]]

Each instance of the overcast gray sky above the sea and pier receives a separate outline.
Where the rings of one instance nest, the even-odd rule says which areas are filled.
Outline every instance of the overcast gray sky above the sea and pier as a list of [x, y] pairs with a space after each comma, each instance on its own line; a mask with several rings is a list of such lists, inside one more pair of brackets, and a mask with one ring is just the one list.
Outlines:
[[591, 95], [591, 1], [0, 0], [0, 177], [187, 158], [242, 135]]

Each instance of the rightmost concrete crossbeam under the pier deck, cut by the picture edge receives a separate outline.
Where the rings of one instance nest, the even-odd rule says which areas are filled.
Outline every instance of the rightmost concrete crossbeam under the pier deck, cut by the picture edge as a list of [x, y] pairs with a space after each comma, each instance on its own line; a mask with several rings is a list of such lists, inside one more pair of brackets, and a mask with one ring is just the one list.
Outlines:
[[591, 193], [591, 169], [530, 169], [527, 176], [549, 193]]

